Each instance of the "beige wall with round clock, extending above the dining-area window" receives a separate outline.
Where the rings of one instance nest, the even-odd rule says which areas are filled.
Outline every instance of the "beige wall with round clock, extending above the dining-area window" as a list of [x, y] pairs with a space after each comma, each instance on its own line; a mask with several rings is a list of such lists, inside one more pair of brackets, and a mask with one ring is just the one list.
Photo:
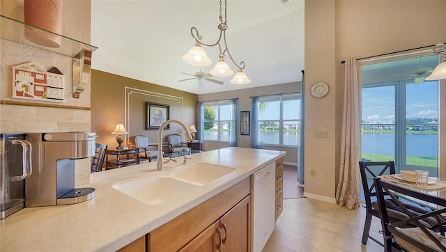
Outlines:
[[[346, 57], [362, 58], [446, 41], [446, 1], [305, 1], [305, 194], [334, 202], [339, 173]], [[325, 81], [330, 93], [309, 95]], [[315, 130], [328, 139], [314, 139]], [[315, 169], [316, 178], [309, 176]]]

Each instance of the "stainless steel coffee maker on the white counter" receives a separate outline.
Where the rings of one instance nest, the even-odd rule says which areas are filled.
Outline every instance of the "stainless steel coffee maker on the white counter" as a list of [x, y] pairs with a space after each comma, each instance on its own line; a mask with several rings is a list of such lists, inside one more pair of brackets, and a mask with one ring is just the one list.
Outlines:
[[75, 159], [95, 155], [94, 132], [26, 134], [33, 146], [33, 175], [25, 182], [25, 207], [81, 203], [94, 188], [75, 188]]

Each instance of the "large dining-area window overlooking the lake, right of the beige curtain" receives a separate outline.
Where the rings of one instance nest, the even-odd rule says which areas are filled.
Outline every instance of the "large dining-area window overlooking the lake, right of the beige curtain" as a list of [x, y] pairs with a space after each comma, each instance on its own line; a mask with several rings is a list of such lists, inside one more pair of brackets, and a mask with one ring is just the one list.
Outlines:
[[438, 81], [424, 81], [437, 64], [434, 55], [362, 66], [362, 160], [438, 175]]

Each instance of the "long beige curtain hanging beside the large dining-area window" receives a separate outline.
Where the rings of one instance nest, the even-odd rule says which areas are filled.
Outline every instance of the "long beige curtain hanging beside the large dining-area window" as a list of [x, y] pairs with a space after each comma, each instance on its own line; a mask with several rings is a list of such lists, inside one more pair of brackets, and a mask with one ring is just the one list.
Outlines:
[[344, 107], [341, 134], [341, 164], [336, 203], [356, 210], [361, 203], [359, 164], [361, 157], [360, 86], [355, 58], [347, 58], [344, 78]]

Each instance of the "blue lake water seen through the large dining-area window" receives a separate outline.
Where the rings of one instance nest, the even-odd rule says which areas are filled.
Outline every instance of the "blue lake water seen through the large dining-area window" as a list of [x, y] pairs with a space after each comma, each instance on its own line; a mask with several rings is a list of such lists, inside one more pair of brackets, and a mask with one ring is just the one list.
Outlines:
[[[394, 134], [362, 134], [361, 152], [394, 155]], [[406, 135], [406, 156], [437, 157], [438, 136], [425, 134]]]

